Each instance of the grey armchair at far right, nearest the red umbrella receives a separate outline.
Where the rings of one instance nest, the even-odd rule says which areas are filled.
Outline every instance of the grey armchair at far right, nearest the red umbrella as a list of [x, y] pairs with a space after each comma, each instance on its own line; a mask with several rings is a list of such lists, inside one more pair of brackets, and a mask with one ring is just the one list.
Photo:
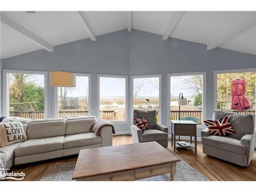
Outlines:
[[227, 137], [209, 135], [209, 130], [201, 131], [203, 153], [241, 166], [249, 166], [254, 154], [254, 119], [252, 115], [214, 112], [213, 119], [229, 117], [236, 131]]

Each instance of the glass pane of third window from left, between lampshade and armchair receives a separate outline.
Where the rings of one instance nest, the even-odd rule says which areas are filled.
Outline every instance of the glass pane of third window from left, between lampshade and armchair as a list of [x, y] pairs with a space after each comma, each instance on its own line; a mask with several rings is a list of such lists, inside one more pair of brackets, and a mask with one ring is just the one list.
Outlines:
[[109, 121], [125, 120], [125, 78], [99, 78], [100, 118]]

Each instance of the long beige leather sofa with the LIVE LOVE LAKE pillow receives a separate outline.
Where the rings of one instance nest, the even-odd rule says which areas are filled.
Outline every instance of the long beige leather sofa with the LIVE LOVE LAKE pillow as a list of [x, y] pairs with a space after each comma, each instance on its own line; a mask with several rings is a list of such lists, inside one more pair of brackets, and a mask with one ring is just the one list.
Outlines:
[[90, 132], [95, 121], [95, 116], [81, 116], [38, 119], [24, 123], [28, 140], [0, 147], [7, 154], [5, 168], [13, 164], [75, 155], [85, 148], [111, 146], [112, 127], [103, 127], [100, 136], [96, 136]]

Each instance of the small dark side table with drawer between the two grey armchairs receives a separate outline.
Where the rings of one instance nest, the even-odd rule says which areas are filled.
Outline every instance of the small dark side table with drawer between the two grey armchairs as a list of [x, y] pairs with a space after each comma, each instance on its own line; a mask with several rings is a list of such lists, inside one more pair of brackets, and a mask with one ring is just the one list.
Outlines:
[[[190, 137], [190, 147], [194, 148], [195, 153], [197, 154], [197, 123], [194, 121], [187, 121], [187, 120], [172, 120], [170, 121], [172, 124], [172, 146], [174, 145], [174, 152], [176, 147], [184, 148], [180, 146], [176, 142], [176, 136], [189, 136]], [[192, 137], [195, 137], [195, 145], [192, 144]]]

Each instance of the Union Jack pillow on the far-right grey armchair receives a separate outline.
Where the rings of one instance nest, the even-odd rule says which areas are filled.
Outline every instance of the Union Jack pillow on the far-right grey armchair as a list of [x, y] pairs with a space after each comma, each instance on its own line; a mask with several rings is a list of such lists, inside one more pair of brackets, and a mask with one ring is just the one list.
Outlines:
[[208, 127], [210, 135], [227, 136], [236, 133], [228, 119], [228, 117], [219, 120], [207, 120], [204, 124]]

